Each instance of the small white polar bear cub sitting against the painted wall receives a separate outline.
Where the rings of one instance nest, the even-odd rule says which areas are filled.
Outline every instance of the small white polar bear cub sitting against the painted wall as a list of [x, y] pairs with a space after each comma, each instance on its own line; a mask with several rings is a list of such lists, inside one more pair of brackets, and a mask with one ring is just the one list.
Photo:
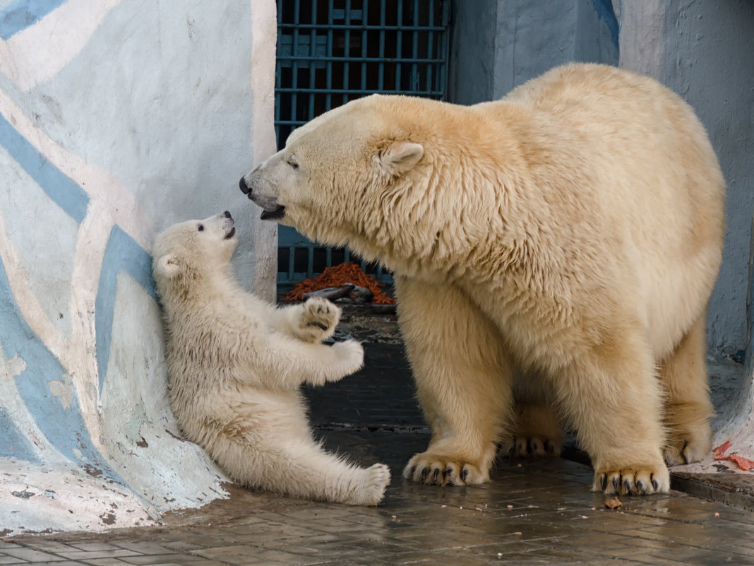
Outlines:
[[250, 488], [376, 505], [388, 466], [361, 468], [312, 438], [302, 383], [322, 385], [363, 365], [356, 340], [326, 346], [340, 318], [323, 299], [285, 308], [245, 292], [230, 258], [227, 211], [158, 236], [153, 269], [164, 308], [170, 407], [184, 434]]

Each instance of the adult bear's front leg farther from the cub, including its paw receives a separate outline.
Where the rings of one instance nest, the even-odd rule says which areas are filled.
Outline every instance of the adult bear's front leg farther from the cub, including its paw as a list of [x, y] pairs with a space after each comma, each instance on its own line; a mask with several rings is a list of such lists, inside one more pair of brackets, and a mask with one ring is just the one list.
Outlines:
[[[639, 327], [639, 325], [635, 325]], [[667, 493], [661, 385], [642, 332], [623, 328], [581, 355], [556, 380], [566, 416], [594, 467], [593, 491]]]

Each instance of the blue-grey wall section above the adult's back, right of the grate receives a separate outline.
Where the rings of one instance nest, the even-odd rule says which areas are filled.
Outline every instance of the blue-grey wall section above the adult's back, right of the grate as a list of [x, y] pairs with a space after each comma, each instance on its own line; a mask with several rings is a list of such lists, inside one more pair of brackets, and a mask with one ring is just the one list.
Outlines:
[[449, 99], [495, 100], [569, 61], [618, 64], [609, 0], [455, 2]]

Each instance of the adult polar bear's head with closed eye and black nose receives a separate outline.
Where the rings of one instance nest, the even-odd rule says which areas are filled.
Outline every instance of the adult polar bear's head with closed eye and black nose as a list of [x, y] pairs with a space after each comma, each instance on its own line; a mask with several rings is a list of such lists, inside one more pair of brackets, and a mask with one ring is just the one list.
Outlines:
[[[373, 95], [297, 128], [286, 147], [241, 178], [262, 219], [294, 226], [329, 245], [373, 238], [411, 176], [426, 170], [416, 122], [433, 101]], [[422, 157], [425, 157], [423, 160]]]

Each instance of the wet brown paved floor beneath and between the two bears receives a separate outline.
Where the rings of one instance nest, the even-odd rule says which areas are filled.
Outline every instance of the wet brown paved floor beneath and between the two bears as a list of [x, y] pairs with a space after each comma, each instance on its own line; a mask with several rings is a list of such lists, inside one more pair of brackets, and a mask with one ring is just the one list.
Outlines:
[[380, 506], [228, 486], [228, 500], [172, 513], [158, 528], [6, 539], [0, 564], [754, 564], [754, 512], [679, 491], [609, 509], [589, 491], [590, 467], [572, 460], [500, 459], [480, 487], [404, 481], [429, 431], [391, 324], [345, 325], [367, 340], [366, 369], [307, 392], [327, 448], [391, 466]]

